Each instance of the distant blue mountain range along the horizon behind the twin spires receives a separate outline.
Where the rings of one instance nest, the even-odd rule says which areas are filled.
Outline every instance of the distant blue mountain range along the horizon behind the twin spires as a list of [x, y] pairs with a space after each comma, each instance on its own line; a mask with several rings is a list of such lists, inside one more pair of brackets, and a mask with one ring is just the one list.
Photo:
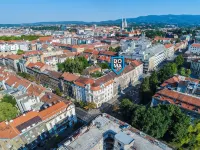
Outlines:
[[[150, 23], [150, 24], [178, 24], [178, 25], [200, 25], [200, 15], [148, 15], [137, 18], [127, 18], [128, 23]], [[58, 21], [58, 22], [37, 22], [24, 24], [0, 24], [0, 26], [34, 26], [34, 25], [55, 25], [55, 24], [120, 24], [121, 19], [100, 22], [84, 21]]]

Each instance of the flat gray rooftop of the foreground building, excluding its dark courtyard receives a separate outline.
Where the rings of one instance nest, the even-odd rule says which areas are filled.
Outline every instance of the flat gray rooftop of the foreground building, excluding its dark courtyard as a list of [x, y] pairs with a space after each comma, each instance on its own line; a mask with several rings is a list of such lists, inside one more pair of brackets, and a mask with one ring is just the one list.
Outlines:
[[[137, 150], [171, 150], [167, 145], [155, 140], [144, 133], [138, 133], [137, 129], [121, 129], [121, 121], [116, 118], [103, 114], [93, 120], [92, 125], [85, 132], [76, 135], [75, 140], [66, 141], [58, 150], [90, 150], [103, 139], [105, 133], [115, 133], [116, 139], [125, 143], [133, 144]], [[132, 141], [134, 141], [132, 143]], [[132, 149], [132, 148], [131, 148]], [[102, 145], [103, 150], [103, 145]]]

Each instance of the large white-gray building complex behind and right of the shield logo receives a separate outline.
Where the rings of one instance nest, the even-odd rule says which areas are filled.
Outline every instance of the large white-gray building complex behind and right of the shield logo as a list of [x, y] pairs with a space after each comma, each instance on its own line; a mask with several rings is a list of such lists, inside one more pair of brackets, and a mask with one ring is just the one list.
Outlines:
[[144, 73], [155, 70], [167, 57], [172, 57], [172, 49], [162, 44], [151, 45], [151, 42], [142, 37], [136, 41], [122, 42], [120, 56], [128, 59], [140, 60], [144, 63]]

